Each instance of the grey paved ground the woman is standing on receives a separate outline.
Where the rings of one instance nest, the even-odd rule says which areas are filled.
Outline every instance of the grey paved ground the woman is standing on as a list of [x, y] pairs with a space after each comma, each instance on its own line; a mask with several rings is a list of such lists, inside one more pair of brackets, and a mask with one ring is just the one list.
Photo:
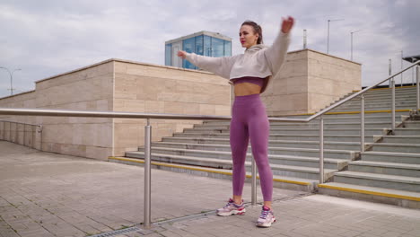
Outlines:
[[[142, 230], [143, 175], [142, 167], [0, 141], [0, 236], [420, 236], [418, 210], [286, 189], [274, 190], [278, 222], [258, 229], [261, 206], [243, 216], [214, 215], [231, 181], [159, 170], [152, 175], [153, 229]], [[244, 195], [250, 201], [249, 184]]]

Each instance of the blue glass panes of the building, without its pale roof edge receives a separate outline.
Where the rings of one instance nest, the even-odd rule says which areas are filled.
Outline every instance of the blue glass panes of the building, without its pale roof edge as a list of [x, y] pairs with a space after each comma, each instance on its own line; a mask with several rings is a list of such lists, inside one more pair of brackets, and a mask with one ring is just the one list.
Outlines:
[[[198, 35], [182, 40], [182, 50], [188, 53], [196, 53], [197, 55], [203, 55], [208, 57], [230, 57], [232, 56], [232, 42], [228, 40], [222, 40], [208, 36], [206, 34]], [[165, 45], [165, 65], [173, 66], [171, 62], [171, 54], [177, 54], [177, 52], [171, 52], [171, 44]], [[180, 62], [179, 62], [180, 63]], [[198, 69], [188, 60], [182, 60], [182, 67], [188, 69]]]

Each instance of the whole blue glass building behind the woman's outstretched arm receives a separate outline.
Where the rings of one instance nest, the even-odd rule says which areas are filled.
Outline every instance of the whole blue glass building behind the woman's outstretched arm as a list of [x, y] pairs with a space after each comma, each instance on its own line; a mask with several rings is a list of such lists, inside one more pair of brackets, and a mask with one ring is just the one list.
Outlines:
[[177, 56], [179, 50], [209, 57], [232, 56], [232, 39], [219, 33], [199, 31], [175, 40], [165, 42], [165, 66], [199, 69]]

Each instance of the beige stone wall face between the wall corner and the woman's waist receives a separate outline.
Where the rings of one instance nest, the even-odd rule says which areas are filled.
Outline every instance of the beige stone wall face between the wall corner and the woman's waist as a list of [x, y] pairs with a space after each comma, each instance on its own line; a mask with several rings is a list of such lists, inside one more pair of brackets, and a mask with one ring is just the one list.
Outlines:
[[[227, 80], [206, 72], [172, 66], [115, 62], [115, 111], [221, 115], [231, 113]], [[144, 145], [145, 119], [115, 119], [114, 155]], [[152, 140], [161, 141], [201, 120], [151, 119]]]

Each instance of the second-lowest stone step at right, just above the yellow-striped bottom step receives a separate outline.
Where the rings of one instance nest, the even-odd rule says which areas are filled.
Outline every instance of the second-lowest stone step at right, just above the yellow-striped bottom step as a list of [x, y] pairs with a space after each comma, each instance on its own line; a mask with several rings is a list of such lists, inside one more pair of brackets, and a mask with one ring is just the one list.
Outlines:
[[420, 178], [416, 177], [355, 171], [340, 171], [334, 174], [333, 180], [335, 182], [362, 186], [420, 192]]

